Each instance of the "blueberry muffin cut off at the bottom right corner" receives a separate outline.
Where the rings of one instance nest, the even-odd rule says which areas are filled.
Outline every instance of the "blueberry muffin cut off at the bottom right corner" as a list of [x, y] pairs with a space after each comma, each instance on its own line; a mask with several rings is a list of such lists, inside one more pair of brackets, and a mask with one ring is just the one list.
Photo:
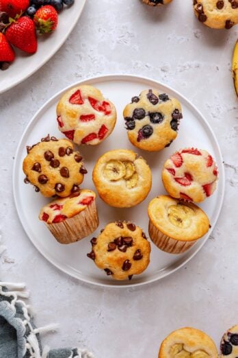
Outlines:
[[233, 326], [224, 333], [221, 342], [221, 358], [238, 357], [238, 326]]

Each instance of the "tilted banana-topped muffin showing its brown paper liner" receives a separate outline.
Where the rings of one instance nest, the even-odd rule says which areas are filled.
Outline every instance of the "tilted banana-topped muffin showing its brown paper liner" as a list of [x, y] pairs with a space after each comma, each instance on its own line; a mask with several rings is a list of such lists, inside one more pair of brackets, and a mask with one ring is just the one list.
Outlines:
[[205, 235], [209, 218], [191, 202], [161, 195], [148, 206], [149, 235], [155, 245], [170, 254], [181, 254]]

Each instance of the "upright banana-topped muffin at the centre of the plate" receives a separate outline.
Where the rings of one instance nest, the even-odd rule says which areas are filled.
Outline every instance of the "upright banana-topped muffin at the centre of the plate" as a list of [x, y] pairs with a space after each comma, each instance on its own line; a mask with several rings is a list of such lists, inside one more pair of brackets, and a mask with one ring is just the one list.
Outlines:
[[146, 198], [152, 175], [141, 156], [131, 150], [111, 150], [96, 162], [92, 180], [104, 202], [117, 208], [129, 208]]

